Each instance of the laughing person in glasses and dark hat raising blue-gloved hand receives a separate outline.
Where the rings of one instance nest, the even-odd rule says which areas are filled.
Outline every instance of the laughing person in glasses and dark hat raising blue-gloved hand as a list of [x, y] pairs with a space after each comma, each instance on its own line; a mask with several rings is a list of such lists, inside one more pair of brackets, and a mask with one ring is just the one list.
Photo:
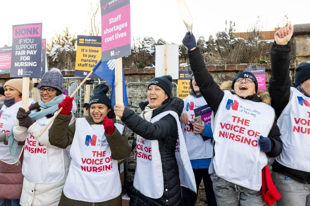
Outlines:
[[226, 88], [222, 89], [226, 90], [222, 91], [206, 69], [194, 35], [187, 32], [183, 44], [188, 49], [190, 67], [200, 92], [213, 111], [215, 155], [209, 173], [213, 173], [217, 205], [264, 205], [262, 199], [270, 201], [262, 181], [265, 177], [271, 180], [265, 167], [267, 156], [275, 157], [282, 150], [270, 97], [257, 95], [257, 80], [246, 71], [239, 72], [231, 86], [225, 84]]

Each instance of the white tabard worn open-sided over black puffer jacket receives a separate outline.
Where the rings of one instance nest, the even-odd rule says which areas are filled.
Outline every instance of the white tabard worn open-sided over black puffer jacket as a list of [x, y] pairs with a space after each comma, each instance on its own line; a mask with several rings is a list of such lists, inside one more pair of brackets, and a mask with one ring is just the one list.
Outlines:
[[[187, 154], [178, 114], [174, 111], [165, 111], [153, 117], [151, 122], [154, 123], [168, 114], [171, 114], [176, 119], [178, 125], [179, 139], [175, 154], [179, 166], [181, 185], [197, 193], [195, 176]], [[137, 167], [133, 186], [150, 198], [157, 199], [163, 195], [164, 185], [158, 140], [137, 139]]]

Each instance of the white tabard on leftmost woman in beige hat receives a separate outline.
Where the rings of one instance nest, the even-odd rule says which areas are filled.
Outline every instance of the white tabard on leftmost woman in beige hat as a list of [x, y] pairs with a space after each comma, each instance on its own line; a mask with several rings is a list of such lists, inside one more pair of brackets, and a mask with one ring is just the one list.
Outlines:
[[[35, 103], [32, 98], [29, 98], [29, 105], [31, 103]], [[22, 101], [19, 101], [13, 104], [10, 107], [6, 107], [5, 105], [2, 106], [0, 110], [0, 131], [1, 132], [10, 132], [13, 128], [16, 119], [16, 113], [18, 108], [22, 107]], [[18, 159], [23, 152], [23, 145], [18, 145]], [[0, 142], [0, 161], [3, 161], [7, 164], [15, 164], [17, 160], [10, 154], [7, 150], [7, 145], [4, 145], [3, 142]]]

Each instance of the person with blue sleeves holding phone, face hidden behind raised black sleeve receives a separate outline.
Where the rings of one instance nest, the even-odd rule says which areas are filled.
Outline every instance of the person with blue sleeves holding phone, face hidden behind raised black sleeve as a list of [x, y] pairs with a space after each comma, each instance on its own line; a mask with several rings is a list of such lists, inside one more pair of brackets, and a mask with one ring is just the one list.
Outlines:
[[[204, 122], [197, 123], [194, 121], [194, 109], [203, 107], [207, 105], [207, 103], [200, 94], [199, 87], [196, 84], [193, 74], [190, 76], [189, 86], [191, 91], [183, 100], [184, 108], [180, 117], [180, 122], [183, 124], [183, 135], [191, 167], [193, 168], [195, 175], [197, 191], [201, 180], [203, 180], [207, 204], [208, 206], [216, 206], [217, 201], [213, 191], [212, 180], [208, 174], [213, 153], [213, 133], [211, 125]], [[194, 206], [196, 201], [197, 194], [182, 186], [182, 205]]]

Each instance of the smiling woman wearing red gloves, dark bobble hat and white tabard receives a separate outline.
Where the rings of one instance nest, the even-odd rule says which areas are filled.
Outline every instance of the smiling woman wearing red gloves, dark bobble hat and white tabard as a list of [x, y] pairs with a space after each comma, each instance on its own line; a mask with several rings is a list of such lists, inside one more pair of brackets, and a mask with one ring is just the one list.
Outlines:
[[71, 164], [59, 206], [121, 206], [122, 185], [118, 161], [131, 148], [122, 136], [124, 126], [114, 123], [115, 113], [107, 96], [109, 88], [98, 84], [90, 99], [88, 116], [69, 125], [73, 98], [66, 97], [49, 130], [54, 146], [71, 145]]

